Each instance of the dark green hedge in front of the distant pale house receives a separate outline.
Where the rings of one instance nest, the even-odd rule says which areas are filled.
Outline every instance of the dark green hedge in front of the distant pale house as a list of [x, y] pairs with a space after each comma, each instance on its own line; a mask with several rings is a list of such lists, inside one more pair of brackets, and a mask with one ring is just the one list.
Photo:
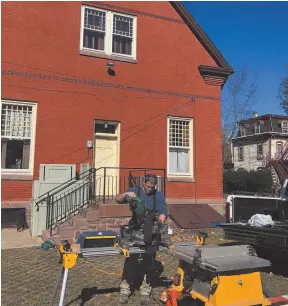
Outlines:
[[272, 176], [269, 169], [261, 171], [229, 170], [223, 173], [224, 193], [233, 191], [272, 193]]

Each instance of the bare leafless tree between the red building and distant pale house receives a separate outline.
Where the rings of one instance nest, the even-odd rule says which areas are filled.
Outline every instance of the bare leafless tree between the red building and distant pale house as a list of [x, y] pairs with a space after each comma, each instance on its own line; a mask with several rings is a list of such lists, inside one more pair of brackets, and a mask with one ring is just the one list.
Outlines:
[[222, 102], [222, 163], [231, 162], [231, 141], [238, 131], [238, 122], [252, 116], [257, 97], [256, 79], [246, 68], [232, 75], [225, 86]]

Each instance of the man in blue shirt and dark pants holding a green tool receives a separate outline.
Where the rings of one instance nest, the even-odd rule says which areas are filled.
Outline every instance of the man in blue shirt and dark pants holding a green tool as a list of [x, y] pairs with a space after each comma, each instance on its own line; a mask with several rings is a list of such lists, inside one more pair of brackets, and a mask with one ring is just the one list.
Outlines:
[[[156, 175], [147, 174], [145, 175], [142, 188], [130, 188], [126, 192], [118, 194], [115, 200], [117, 203], [124, 203], [126, 195], [131, 198], [139, 196], [142, 201], [145, 201], [147, 208], [152, 210], [155, 205], [159, 219], [164, 223], [167, 218], [166, 201], [164, 195], [156, 190], [156, 185]], [[149, 304], [149, 296], [152, 291], [151, 282], [156, 269], [155, 258], [156, 253], [135, 254], [125, 259], [122, 283], [120, 285], [120, 304], [128, 303], [128, 297], [131, 294], [131, 284], [137, 282], [138, 278], [142, 282], [140, 287], [141, 305]]]

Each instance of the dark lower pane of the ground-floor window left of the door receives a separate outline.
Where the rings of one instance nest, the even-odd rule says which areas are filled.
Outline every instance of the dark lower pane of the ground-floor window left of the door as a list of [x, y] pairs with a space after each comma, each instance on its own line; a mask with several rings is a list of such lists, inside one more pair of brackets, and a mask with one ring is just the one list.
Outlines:
[[30, 140], [5, 139], [5, 142], [6, 145], [2, 140], [2, 155], [6, 155], [2, 168], [29, 169]]

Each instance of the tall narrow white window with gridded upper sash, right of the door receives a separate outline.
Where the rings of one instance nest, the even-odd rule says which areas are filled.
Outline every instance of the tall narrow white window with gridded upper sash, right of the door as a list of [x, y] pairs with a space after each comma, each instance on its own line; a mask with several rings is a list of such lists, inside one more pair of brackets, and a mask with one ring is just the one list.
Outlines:
[[191, 175], [192, 120], [168, 118], [168, 174]]

